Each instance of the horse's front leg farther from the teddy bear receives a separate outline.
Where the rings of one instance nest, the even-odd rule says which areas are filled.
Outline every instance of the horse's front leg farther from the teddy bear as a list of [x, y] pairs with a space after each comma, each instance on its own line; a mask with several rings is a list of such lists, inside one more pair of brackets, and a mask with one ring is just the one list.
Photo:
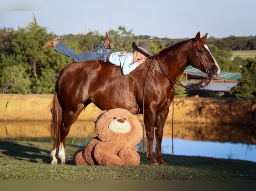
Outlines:
[[155, 117], [155, 157], [160, 165], [166, 165], [162, 159], [161, 147], [163, 139], [163, 127], [169, 113], [169, 107], [160, 113], [156, 113]]

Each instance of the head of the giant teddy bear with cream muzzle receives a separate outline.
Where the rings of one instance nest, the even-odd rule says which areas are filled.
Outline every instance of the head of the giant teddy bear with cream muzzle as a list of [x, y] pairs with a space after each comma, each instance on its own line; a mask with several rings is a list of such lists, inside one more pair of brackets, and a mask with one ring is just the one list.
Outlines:
[[124, 140], [136, 145], [142, 138], [139, 120], [126, 109], [115, 108], [102, 111], [95, 120], [95, 127], [101, 141]]

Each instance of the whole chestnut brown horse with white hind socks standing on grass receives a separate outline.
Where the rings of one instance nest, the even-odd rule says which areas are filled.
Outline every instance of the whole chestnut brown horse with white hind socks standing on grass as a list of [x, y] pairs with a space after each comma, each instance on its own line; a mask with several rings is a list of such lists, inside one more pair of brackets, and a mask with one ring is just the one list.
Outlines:
[[143, 114], [147, 159], [151, 165], [166, 165], [161, 142], [175, 82], [188, 65], [205, 72], [210, 79], [221, 71], [205, 43], [207, 35], [201, 38], [198, 32], [195, 38], [162, 49], [128, 75], [123, 75], [120, 67], [102, 61], [73, 62], [64, 67], [53, 93], [51, 136], [55, 140], [51, 164], [58, 163], [57, 157], [62, 165], [69, 164], [65, 156], [66, 137], [81, 111], [93, 102], [101, 110], [123, 108], [134, 115]]

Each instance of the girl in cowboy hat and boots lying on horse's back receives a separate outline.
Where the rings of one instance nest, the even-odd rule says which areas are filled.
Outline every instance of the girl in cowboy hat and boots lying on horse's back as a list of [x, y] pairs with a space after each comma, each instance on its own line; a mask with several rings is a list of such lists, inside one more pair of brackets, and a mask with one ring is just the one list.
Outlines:
[[140, 64], [144, 63], [148, 57], [154, 56], [149, 53], [150, 45], [144, 41], [138, 46], [133, 42], [132, 48], [134, 51], [113, 52], [110, 50], [114, 47], [113, 38], [110, 32], [107, 32], [106, 40], [101, 41], [96, 49], [89, 53], [77, 54], [73, 49], [59, 41], [59, 37], [48, 41], [43, 49], [48, 47], [53, 47], [53, 50], [57, 53], [72, 58], [74, 62], [100, 60], [109, 62], [115, 66], [120, 66], [123, 75], [129, 74]]

